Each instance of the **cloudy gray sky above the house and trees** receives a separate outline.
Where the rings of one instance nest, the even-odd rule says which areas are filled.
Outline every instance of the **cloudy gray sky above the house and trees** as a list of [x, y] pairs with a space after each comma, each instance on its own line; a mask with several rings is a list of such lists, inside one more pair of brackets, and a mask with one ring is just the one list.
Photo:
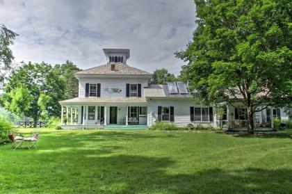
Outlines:
[[15, 62], [104, 65], [103, 48], [130, 49], [127, 64], [178, 75], [195, 30], [193, 0], [0, 0], [0, 24], [18, 33]]

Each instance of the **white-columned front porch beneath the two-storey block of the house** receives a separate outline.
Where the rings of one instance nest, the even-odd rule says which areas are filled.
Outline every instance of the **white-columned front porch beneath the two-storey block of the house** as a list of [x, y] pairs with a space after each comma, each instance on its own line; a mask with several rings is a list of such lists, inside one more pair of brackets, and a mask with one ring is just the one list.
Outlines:
[[147, 129], [147, 106], [62, 106], [63, 129]]

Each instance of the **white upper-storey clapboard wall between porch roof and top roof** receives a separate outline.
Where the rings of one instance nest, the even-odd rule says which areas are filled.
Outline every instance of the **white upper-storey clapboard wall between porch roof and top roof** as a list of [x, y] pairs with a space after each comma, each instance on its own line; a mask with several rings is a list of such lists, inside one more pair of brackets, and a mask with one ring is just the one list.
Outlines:
[[[148, 86], [147, 79], [121, 79], [121, 78], [106, 78], [94, 79], [83, 78], [79, 80], [79, 97], [85, 97], [86, 83], [101, 83], [100, 97], [126, 97], [127, 83], [141, 84], [141, 97], [144, 96], [144, 87]], [[118, 88], [120, 92], [111, 92], [111, 88]]]

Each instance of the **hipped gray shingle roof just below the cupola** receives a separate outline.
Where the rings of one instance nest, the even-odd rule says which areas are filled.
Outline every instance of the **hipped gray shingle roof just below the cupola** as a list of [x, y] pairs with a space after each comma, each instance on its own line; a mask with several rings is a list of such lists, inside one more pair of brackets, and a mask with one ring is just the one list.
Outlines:
[[[111, 71], [111, 65], [115, 64], [115, 71]], [[81, 72], [76, 72], [78, 74], [123, 74], [123, 75], [149, 75], [149, 72], [139, 70], [135, 67], [130, 67], [125, 63], [108, 63], [106, 65], [101, 65], [98, 67], [93, 67], [88, 70], [83, 70]]]

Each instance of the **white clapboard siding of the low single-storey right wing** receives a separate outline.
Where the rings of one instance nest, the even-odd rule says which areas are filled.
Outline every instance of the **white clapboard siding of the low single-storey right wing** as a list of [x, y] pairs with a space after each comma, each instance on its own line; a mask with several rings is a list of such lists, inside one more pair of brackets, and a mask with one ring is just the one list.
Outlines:
[[[181, 101], [181, 100], [150, 100], [148, 102], [148, 118], [149, 126], [155, 124], [158, 120], [158, 106], [174, 106], [175, 109], [175, 124], [179, 127], [186, 127], [190, 122], [190, 106], [204, 107], [200, 104], [195, 104], [193, 100]], [[215, 114], [213, 108], [213, 115]], [[213, 126], [214, 122], [193, 122], [195, 125], [202, 125], [204, 127]]]

